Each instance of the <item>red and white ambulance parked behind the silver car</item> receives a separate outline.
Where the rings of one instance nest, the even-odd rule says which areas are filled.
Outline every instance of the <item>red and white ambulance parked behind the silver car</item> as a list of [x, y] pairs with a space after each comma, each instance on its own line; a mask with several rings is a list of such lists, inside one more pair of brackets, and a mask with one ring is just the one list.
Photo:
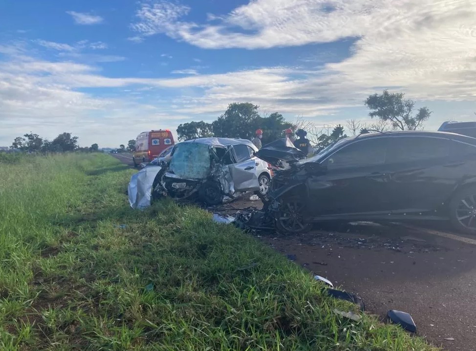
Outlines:
[[132, 162], [135, 167], [140, 163], [150, 162], [164, 149], [174, 144], [173, 135], [169, 129], [142, 132], [135, 140]]

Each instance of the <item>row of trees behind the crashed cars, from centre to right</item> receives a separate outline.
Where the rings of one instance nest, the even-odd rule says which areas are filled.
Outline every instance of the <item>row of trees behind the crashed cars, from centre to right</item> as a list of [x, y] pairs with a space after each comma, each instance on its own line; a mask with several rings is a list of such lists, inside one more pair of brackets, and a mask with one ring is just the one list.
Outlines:
[[[415, 111], [415, 103], [405, 98], [404, 93], [384, 90], [382, 94], [370, 95], [365, 101], [370, 110], [369, 116], [374, 123], [366, 124], [355, 119], [347, 121], [347, 130], [352, 135], [369, 131], [419, 130], [430, 118], [428, 107]], [[253, 103], [231, 103], [226, 111], [212, 123], [204, 121], [180, 124], [177, 127], [179, 141], [202, 137], [225, 137], [252, 139], [256, 129], [263, 131], [263, 144], [284, 136], [284, 130], [294, 132], [302, 128], [307, 138], [318, 148], [325, 147], [336, 140], [346, 138], [345, 127], [341, 124], [318, 127], [310, 121], [298, 118], [294, 122], [286, 121], [279, 112], [260, 115], [259, 106]]]

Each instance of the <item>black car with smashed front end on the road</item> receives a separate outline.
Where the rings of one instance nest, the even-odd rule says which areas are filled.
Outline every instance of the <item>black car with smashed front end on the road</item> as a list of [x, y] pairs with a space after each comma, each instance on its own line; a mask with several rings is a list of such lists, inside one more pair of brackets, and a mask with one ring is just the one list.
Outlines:
[[[476, 233], [476, 139], [385, 132], [342, 139], [276, 172], [260, 218], [298, 233], [325, 220], [451, 220]], [[268, 162], [276, 150], [256, 153]], [[281, 152], [282, 154], [282, 152]]]

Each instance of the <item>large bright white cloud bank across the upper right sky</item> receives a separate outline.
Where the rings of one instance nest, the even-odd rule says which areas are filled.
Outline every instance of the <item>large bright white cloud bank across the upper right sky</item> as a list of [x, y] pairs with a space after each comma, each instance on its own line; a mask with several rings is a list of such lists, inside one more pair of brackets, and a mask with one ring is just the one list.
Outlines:
[[367, 91], [395, 87], [415, 99], [476, 99], [473, 0], [254, 0], [205, 24], [184, 21], [189, 10], [143, 3], [132, 29], [206, 49], [353, 39], [347, 59], [323, 65], [313, 78], [329, 87], [326, 96], [347, 100], [349, 92], [361, 101]]

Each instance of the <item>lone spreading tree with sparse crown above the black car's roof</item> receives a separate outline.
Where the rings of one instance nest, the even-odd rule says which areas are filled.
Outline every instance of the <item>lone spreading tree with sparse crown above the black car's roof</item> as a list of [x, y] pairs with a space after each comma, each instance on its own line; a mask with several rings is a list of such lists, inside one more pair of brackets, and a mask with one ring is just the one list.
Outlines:
[[377, 117], [400, 130], [422, 129], [432, 114], [428, 107], [420, 107], [416, 114], [412, 114], [415, 103], [405, 99], [404, 93], [389, 93], [388, 90], [381, 95], [370, 95], [364, 103], [371, 110], [368, 114], [371, 118]]

